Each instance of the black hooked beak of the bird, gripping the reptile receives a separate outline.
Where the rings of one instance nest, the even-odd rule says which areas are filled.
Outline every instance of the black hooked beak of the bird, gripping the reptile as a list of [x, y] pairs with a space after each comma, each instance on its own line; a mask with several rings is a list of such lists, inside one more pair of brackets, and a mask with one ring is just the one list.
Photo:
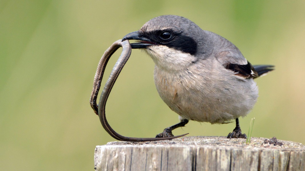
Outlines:
[[140, 36], [138, 31], [134, 31], [134, 32], [127, 34], [126, 36], [123, 37], [122, 41], [124, 41], [124, 40], [139, 40], [138, 43], [130, 44], [132, 49], [146, 48], [146, 47], [154, 44], [148, 38]]

